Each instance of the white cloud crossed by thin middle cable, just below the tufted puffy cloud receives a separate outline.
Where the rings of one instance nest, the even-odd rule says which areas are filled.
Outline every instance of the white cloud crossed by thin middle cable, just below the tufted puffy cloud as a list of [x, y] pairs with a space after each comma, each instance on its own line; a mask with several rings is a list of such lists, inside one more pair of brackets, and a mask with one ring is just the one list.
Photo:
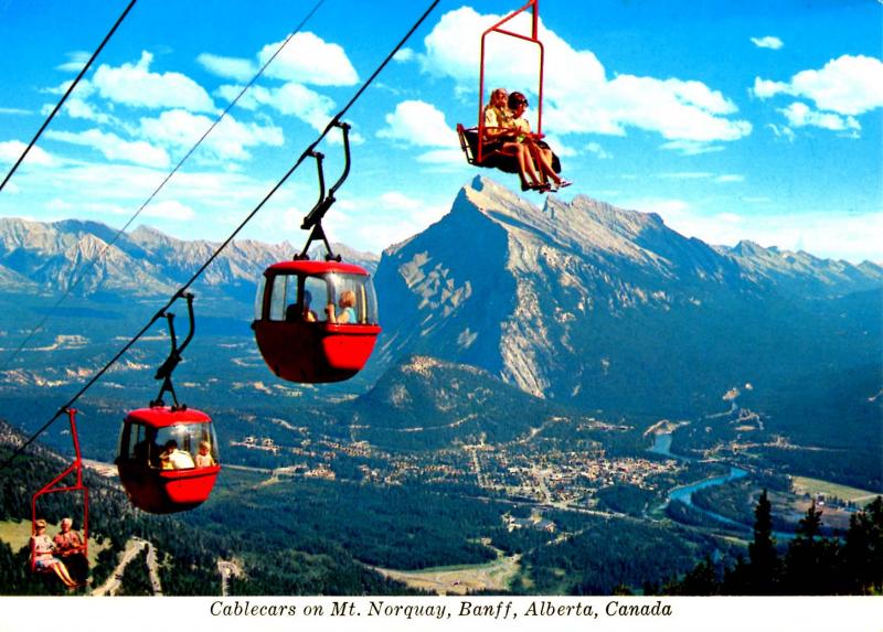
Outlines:
[[[212, 125], [212, 119], [177, 109], [162, 113], [157, 118], [142, 118], [140, 133], [155, 142], [173, 149], [189, 149]], [[227, 115], [202, 142], [213, 158], [221, 160], [246, 160], [248, 147], [279, 147], [284, 142], [280, 128], [262, 127], [258, 124], [237, 121]]]

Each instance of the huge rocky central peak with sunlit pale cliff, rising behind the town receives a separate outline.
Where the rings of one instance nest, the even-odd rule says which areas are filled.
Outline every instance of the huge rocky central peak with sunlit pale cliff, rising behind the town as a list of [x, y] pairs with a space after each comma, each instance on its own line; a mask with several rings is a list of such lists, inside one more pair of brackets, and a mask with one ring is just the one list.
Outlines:
[[[716, 249], [586, 196], [538, 208], [477, 178], [384, 253], [381, 358], [434, 355], [540, 397], [677, 413], [798, 366], [830, 324], [794, 293], [796, 278], [825, 282], [819, 269], [775, 268], [760, 250]], [[845, 264], [840, 290], [880, 287], [869, 269]]]

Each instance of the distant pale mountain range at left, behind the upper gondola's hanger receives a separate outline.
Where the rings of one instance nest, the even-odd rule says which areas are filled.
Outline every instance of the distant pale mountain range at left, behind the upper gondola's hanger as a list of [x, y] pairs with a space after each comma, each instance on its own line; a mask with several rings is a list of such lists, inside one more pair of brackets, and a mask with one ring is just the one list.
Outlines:
[[[119, 233], [104, 224], [66, 219], [43, 224], [0, 218], [0, 290], [55, 296], [171, 294], [211, 257], [220, 244], [175, 239], [149, 226]], [[377, 257], [342, 244], [332, 248], [369, 271]], [[288, 242], [233, 242], [199, 279], [203, 291], [251, 302], [256, 279], [277, 261], [290, 259]], [[82, 277], [82, 279], [81, 279]]]

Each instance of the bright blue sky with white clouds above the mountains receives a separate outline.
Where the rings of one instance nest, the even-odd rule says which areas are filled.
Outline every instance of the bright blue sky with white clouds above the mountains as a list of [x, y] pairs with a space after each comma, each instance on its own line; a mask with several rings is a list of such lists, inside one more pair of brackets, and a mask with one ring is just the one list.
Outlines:
[[[126, 4], [0, 0], [3, 175]], [[140, 0], [0, 192], [0, 216], [125, 224], [315, 4]], [[425, 6], [325, 0], [135, 225], [225, 238]], [[352, 107], [333, 240], [380, 253], [442, 217], [479, 172], [454, 128], [476, 122], [480, 32], [519, 6], [443, 0]], [[565, 199], [657, 212], [712, 244], [883, 263], [883, 2], [540, 7], [543, 131], [575, 182]], [[526, 93], [534, 116], [536, 63], [530, 44], [489, 42], [489, 86]], [[341, 147], [320, 149], [333, 181]], [[243, 236], [299, 246], [316, 197], [305, 164]]]

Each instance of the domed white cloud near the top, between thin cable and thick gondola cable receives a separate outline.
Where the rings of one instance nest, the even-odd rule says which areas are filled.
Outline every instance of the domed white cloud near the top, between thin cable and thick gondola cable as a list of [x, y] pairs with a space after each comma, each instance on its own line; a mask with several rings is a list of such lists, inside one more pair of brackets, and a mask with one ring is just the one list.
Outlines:
[[[263, 65], [279, 49], [281, 42], [267, 44], [258, 53]], [[317, 35], [295, 34], [285, 49], [267, 66], [268, 77], [317, 86], [351, 86], [359, 81], [347, 53]]]

